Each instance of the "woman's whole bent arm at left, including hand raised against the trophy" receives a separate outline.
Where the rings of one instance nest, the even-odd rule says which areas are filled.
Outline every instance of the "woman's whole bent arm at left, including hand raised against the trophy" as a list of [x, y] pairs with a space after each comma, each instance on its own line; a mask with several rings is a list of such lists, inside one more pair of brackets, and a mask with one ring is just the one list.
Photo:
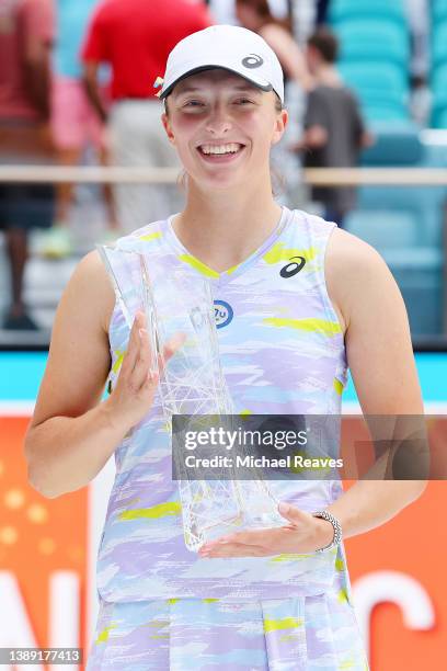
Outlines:
[[59, 303], [25, 436], [28, 479], [45, 497], [88, 485], [152, 403], [158, 380], [149, 376], [149, 339], [141, 314], [115, 388], [100, 402], [111, 365], [107, 331], [114, 304], [103, 263], [98, 252], [91, 252], [77, 266]]

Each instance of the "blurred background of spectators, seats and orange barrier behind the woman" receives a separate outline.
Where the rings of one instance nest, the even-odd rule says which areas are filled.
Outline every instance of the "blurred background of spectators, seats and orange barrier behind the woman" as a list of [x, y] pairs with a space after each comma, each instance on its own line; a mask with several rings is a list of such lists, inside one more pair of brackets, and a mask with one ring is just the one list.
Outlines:
[[[23, 435], [81, 257], [182, 207], [157, 78], [213, 23], [277, 53], [290, 115], [272, 157], [278, 201], [382, 254], [447, 435], [447, 0], [0, 0], [0, 647], [90, 645], [113, 464], [45, 500], [26, 484]], [[343, 408], [359, 411], [351, 380]], [[443, 504], [431, 482], [346, 543], [373, 671], [445, 668]]]

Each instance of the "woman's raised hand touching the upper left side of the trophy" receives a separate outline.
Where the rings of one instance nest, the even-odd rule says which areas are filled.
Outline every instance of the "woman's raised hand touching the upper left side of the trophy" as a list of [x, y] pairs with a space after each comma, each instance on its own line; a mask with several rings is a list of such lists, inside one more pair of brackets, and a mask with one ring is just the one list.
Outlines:
[[[163, 349], [164, 364], [175, 354], [185, 341], [183, 333], [174, 336]], [[159, 384], [159, 373], [151, 372], [151, 348], [146, 329], [146, 317], [138, 311], [131, 327], [127, 351], [123, 359], [115, 387], [104, 403], [113, 424], [119, 424], [127, 430], [135, 427], [149, 412], [156, 389]], [[161, 369], [163, 361], [158, 357]]]

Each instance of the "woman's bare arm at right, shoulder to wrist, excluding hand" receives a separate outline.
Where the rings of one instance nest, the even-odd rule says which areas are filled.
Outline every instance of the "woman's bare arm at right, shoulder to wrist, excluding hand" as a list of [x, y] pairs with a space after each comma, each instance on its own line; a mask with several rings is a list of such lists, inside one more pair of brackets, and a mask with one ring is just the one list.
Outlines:
[[[346, 323], [347, 361], [364, 414], [423, 416], [405, 306], [383, 259], [335, 229], [328, 244], [326, 284]], [[393, 518], [425, 487], [421, 480], [358, 480], [328, 510], [348, 538]]]

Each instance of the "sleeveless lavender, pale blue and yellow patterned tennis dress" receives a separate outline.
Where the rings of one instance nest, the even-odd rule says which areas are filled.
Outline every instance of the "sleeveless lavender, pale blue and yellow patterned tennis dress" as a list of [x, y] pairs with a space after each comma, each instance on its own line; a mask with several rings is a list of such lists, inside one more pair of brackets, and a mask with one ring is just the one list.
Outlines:
[[[144, 253], [149, 272], [151, 259], [152, 268], [162, 268], [156, 282], [176, 268], [209, 280], [234, 412], [340, 414], [347, 362], [324, 280], [325, 248], [336, 225], [283, 207], [268, 239], [241, 264], [217, 273], [182, 246], [172, 219], [116, 244]], [[128, 337], [116, 302], [110, 391]], [[88, 671], [368, 669], [343, 544], [318, 554], [229, 559], [187, 550], [157, 394], [149, 413], [117, 446], [115, 463]], [[270, 487], [278, 500], [309, 512], [343, 492], [340, 480], [328, 479]]]

